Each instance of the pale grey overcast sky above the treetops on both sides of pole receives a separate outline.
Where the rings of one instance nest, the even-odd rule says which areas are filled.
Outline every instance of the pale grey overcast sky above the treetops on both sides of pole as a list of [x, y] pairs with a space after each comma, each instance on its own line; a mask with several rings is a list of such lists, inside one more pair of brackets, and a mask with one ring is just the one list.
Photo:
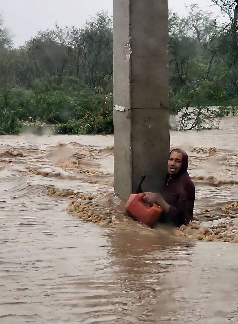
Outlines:
[[[145, 0], [146, 1], [146, 0]], [[185, 14], [184, 4], [198, 3], [204, 10], [220, 14], [216, 7], [209, 8], [210, 0], [168, 0], [168, 7], [180, 15]], [[82, 27], [97, 12], [113, 13], [113, 0], [1, 0], [0, 14], [4, 25], [13, 36], [15, 46], [23, 45], [38, 30], [60, 26]]]

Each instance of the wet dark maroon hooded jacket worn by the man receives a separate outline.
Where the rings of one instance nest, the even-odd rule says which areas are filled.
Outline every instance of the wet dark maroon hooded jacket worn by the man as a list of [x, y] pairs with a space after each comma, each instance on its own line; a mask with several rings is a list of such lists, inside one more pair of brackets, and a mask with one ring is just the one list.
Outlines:
[[195, 187], [187, 173], [188, 156], [186, 152], [179, 150], [183, 155], [179, 173], [174, 176], [167, 175], [165, 186], [161, 192], [166, 203], [170, 205], [168, 213], [162, 215], [161, 222], [171, 223], [176, 227], [183, 224], [188, 225], [189, 221], [193, 219], [195, 200]]

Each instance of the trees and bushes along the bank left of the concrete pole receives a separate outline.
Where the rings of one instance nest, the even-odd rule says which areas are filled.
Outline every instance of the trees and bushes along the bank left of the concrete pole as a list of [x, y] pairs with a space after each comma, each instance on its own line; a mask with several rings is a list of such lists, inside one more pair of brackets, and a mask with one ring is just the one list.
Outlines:
[[0, 133], [27, 121], [58, 133], [112, 133], [112, 22], [100, 13], [82, 29], [56, 25], [14, 49], [1, 20]]

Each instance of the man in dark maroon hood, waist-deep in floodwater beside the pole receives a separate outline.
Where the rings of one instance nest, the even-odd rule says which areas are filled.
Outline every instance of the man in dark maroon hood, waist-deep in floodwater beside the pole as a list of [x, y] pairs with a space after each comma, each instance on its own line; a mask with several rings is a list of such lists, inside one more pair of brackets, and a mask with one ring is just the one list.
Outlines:
[[179, 148], [173, 149], [168, 159], [168, 174], [161, 194], [145, 192], [143, 199], [146, 203], [156, 203], [163, 209], [161, 223], [180, 227], [188, 225], [193, 219], [195, 187], [187, 168], [187, 153]]

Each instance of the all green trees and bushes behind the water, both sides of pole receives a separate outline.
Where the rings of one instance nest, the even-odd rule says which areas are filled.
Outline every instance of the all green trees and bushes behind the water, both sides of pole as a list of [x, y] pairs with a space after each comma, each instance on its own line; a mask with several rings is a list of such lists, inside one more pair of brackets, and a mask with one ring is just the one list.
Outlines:
[[[198, 5], [169, 11], [171, 114], [177, 130], [217, 128], [238, 112], [238, 1], [212, 0], [224, 22]], [[14, 48], [0, 20], [0, 134], [51, 124], [56, 133], [113, 133], [113, 19], [55, 26]], [[216, 107], [216, 108], [212, 108]]]

